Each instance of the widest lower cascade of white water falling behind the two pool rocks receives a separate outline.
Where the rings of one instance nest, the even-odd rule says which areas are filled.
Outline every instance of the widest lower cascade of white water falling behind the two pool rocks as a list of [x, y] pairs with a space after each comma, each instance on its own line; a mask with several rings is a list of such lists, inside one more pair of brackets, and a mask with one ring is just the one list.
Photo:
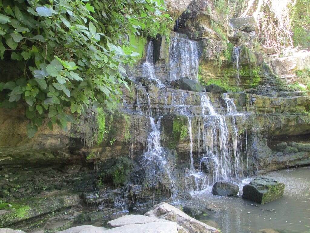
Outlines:
[[[212, 183], [218, 180], [229, 181], [233, 176], [238, 178], [241, 161], [235, 118], [232, 118], [232, 131], [229, 133], [225, 116], [215, 112], [206, 94], [201, 94], [201, 106], [203, 158], [200, 162], [204, 165]], [[206, 110], [209, 115], [205, 114]]]

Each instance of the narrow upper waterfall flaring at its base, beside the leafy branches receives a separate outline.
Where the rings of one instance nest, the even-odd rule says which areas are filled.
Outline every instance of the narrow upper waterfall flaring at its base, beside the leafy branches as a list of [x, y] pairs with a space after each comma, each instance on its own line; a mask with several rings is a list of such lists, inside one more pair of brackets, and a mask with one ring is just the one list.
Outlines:
[[158, 86], [162, 86], [161, 81], [157, 79], [156, 74], [155, 74], [155, 67], [153, 63], [153, 50], [154, 50], [153, 40], [150, 40], [150, 42], [148, 43], [146, 59], [142, 65], [142, 75], [144, 77], [147, 77], [148, 79], [155, 80]]

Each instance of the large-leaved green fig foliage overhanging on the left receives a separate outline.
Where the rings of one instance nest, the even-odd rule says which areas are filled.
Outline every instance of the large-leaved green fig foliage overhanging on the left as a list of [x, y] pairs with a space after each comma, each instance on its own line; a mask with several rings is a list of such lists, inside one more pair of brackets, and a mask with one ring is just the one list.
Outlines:
[[[29, 138], [45, 118], [67, 129], [71, 114], [96, 102], [112, 111], [125, 84], [120, 64], [135, 61], [125, 33], [160, 26], [163, 0], [2, 0], [0, 57], [22, 64], [21, 77], [0, 84], [2, 107], [26, 104]], [[19, 67], [19, 66], [16, 66]]]

